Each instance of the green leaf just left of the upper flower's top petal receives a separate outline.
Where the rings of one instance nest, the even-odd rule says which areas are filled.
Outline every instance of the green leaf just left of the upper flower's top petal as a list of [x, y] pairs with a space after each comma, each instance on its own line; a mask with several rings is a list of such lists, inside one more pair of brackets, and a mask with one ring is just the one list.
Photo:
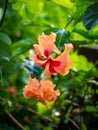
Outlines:
[[18, 41], [12, 45], [12, 58], [16, 57], [24, 52], [26, 52], [28, 49], [30, 49], [32, 46], [32, 39], [24, 39], [21, 41]]

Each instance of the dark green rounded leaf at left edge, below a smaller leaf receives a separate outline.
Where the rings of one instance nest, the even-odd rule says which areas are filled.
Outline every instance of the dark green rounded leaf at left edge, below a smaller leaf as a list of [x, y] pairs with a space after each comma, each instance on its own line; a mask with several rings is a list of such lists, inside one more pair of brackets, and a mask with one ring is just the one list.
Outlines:
[[11, 54], [12, 52], [10, 46], [0, 40], [0, 58], [9, 60]]

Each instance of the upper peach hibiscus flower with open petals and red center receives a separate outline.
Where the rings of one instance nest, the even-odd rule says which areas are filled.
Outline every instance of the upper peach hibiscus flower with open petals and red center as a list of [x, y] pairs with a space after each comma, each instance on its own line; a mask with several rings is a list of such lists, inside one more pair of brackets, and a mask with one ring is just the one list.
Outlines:
[[[56, 40], [56, 34], [51, 33], [50, 35], [42, 34], [39, 36], [39, 44], [34, 44], [35, 55], [31, 56], [31, 59], [35, 63], [45, 69], [47, 77], [51, 75], [68, 74], [71, 69], [71, 59], [69, 52], [73, 48], [72, 44], [65, 44], [65, 50], [61, 53], [60, 50], [54, 44]], [[51, 52], [59, 54], [58, 57], [53, 58]]]

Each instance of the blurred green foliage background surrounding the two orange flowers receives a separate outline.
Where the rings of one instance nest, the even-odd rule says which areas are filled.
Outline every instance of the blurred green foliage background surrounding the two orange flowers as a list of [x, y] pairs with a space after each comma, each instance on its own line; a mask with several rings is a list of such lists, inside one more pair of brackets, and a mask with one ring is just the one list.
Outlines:
[[[97, 130], [98, 0], [0, 0], [0, 130]], [[50, 80], [61, 95], [47, 109], [23, 88], [43, 69], [30, 60], [44, 32], [72, 43], [72, 69]]]

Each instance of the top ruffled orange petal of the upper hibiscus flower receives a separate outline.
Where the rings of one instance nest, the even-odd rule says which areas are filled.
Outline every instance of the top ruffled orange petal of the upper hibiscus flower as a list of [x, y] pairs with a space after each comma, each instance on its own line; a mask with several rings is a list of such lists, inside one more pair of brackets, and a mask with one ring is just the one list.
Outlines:
[[44, 33], [39, 36], [38, 41], [39, 45], [34, 44], [34, 50], [36, 54], [40, 56], [48, 57], [52, 51], [60, 54], [60, 51], [57, 49], [56, 45], [54, 44], [56, 40], [56, 34], [51, 33], [50, 35], [45, 35]]

